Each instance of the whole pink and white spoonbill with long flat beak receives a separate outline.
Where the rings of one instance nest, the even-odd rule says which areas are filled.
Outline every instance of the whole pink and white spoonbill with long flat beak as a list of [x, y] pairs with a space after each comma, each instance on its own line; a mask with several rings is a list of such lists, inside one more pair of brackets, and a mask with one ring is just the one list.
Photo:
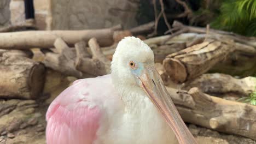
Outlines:
[[108, 75], [76, 80], [46, 112], [48, 144], [196, 143], [141, 39], [119, 41]]

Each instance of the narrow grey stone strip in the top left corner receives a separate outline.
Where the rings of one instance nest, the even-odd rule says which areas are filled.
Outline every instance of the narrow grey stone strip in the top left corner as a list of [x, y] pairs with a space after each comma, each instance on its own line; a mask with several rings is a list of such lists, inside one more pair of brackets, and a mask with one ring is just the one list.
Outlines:
[[7, 26], [10, 24], [10, 0], [0, 1], [0, 26]]

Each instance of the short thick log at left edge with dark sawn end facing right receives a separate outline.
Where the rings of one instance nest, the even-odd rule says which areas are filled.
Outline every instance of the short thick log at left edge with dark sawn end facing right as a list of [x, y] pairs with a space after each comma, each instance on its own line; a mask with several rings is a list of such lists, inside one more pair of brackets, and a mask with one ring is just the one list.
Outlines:
[[43, 64], [23, 56], [0, 57], [0, 97], [36, 99], [44, 86]]

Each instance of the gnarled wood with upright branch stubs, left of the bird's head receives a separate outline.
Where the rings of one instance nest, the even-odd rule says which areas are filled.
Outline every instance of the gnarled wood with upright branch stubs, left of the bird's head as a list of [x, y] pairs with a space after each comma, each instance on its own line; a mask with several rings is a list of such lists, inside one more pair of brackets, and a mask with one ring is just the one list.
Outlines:
[[46, 51], [43, 63], [46, 67], [60, 71], [69, 76], [79, 79], [106, 75], [110, 71], [110, 61], [103, 55], [100, 46], [95, 38], [89, 40], [90, 52], [86, 49], [85, 41], [75, 44], [75, 49], [68, 45], [61, 38], [55, 40], [54, 52]]

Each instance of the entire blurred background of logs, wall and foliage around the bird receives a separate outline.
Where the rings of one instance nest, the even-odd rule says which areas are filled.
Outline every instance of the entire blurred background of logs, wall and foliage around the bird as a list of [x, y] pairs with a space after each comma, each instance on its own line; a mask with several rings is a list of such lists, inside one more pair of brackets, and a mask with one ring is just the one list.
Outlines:
[[45, 143], [51, 101], [109, 74], [127, 36], [199, 143], [256, 143], [255, 0], [1, 0], [0, 143]]

